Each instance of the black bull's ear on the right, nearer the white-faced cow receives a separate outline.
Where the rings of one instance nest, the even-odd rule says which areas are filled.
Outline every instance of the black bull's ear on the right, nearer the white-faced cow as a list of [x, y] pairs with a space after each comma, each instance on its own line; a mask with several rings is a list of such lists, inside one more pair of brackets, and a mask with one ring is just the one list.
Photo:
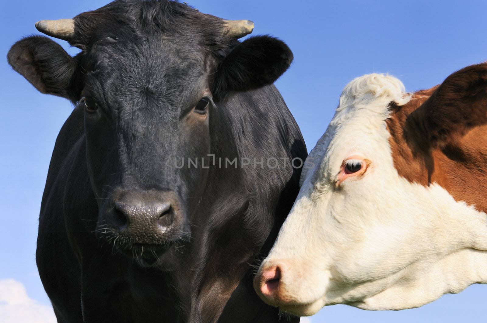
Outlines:
[[271, 36], [255, 36], [237, 45], [215, 73], [213, 95], [255, 90], [274, 83], [293, 61], [287, 45]]

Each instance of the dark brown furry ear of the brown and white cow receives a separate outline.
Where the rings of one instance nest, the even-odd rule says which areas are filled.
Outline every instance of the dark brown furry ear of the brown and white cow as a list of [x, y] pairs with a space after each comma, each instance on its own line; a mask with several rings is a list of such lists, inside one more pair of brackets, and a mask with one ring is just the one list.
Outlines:
[[470, 128], [487, 123], [487, 63], [454, 72], [408, 117], [424, 144], [454, 144]]

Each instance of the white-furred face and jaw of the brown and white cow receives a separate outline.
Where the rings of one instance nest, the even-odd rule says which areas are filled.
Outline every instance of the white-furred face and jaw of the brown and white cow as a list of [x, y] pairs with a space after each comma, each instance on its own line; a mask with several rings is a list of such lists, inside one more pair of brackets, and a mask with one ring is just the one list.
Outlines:
[[[356, 88], [397, 81], [370, 77], [353, 81], [361, 83]], [[340, 99], [348, 106], [337, 109], [310, 154], [316, 165], [303, 172], [300, 195], [259, 270], [280, 266], [279, 290], [261, 297], [295, 315], [334, 304], [411, 308], [487, 283], [487, 215], [435, 183], [398, 175], [385, 120], [389, 102], [401, 98], [389, 94], [394, 89], [365, 90]], [[335, 170], [356, 152], [372, 161], [370, 169], [336, 189]]]

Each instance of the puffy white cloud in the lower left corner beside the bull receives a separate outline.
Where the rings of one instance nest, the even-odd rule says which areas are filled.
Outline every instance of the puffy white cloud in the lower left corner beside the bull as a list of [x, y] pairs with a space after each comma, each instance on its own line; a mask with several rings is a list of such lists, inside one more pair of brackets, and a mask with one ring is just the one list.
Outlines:
[[51, 306], [29, 298], [22, 283], [0, 279], [0, 318], [2, 323], [55, 323]]

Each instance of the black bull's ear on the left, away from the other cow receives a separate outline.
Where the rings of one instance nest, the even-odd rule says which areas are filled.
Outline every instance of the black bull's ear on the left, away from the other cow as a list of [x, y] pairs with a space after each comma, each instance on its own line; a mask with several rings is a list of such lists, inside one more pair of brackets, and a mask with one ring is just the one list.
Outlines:
[[30, 36], [19, 40], [10, 48], [7, 60], [39, 92], [77, 99], [76, 61], [50, 38]]

